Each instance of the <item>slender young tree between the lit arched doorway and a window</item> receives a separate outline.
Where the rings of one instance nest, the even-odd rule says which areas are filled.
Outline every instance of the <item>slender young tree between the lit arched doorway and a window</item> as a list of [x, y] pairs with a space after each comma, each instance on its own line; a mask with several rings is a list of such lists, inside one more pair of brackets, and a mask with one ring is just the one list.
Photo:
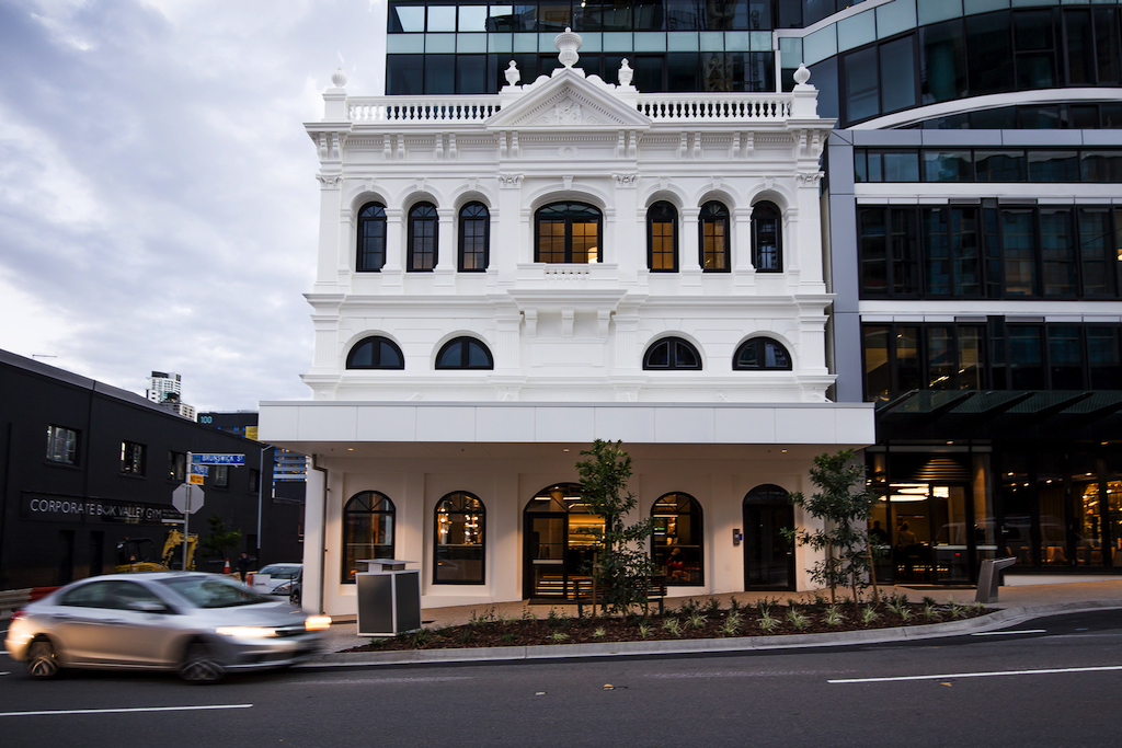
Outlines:
[[646, 547], [654, 532], [653, 521], [624, 521], [637, 500], [627, 490], [631, 455], [620, 444], [598, 438], [591, 450], [581, 452], [589, 459], [577, 463], [581, 497], [594, 514], [604, 517], [591, 573], [608, 613], [626, 613], [632, 606], [645, 604], [647, 576], [654, 571]]

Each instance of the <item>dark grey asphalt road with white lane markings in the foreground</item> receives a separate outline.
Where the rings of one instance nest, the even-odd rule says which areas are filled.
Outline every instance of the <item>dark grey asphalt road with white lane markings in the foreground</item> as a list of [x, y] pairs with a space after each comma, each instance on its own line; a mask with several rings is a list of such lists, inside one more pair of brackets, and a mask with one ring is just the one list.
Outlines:
[[1113, 746], [1122, 611], [986, 635], [736, 655], [315, 667], [193, 686], [34, 682], [0, 657], [0, 745]]

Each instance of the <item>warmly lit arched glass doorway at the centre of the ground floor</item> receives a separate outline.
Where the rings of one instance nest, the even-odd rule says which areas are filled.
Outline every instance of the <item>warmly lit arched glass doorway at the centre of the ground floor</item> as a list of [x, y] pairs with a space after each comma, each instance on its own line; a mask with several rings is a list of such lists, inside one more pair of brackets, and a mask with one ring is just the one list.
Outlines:
[[588, 567], [604, 530], [604, 517], [588, 510], [579, 483], [555, 483], [534, 495], [523, 518], [523, 597], [577, 597], [577, 590], [590, 581]]

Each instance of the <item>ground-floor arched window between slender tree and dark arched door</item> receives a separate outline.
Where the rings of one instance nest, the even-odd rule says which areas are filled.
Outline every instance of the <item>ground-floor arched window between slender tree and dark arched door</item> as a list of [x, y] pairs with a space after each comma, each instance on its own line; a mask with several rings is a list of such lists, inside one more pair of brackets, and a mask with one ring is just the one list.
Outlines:
[[701, 505], [689, 493], [668, 493], [651, 509], [651, 555], [666, 584], [705, 584]]

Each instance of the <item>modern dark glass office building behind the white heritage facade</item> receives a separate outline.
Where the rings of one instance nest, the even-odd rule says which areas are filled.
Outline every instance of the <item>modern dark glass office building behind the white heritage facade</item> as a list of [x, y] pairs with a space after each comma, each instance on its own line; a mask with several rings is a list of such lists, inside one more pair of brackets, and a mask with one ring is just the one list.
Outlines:
[[565, 27], [645, 93], [810, 70], [838, 120], [831, 396], [877, 404], [885, 579], [1122, 569], [1119, 2], [390, 2], [386, 93], [495, 93], [512, 59], [532, 81]]

